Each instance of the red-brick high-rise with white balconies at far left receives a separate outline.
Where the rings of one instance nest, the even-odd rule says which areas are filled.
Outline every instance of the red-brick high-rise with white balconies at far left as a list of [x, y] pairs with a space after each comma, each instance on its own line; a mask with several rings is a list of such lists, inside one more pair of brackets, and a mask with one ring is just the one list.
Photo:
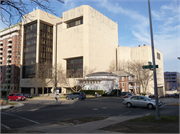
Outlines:
[[0, 31], [1, 90], [19, 92], [21, 23]]

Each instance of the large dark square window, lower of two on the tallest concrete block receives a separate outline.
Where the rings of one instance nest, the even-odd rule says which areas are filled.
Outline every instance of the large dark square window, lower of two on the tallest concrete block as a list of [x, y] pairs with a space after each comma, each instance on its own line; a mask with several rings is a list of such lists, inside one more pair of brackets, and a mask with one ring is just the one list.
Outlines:
[[67, 60], [67, 78], [83, 77], [83, 58]]

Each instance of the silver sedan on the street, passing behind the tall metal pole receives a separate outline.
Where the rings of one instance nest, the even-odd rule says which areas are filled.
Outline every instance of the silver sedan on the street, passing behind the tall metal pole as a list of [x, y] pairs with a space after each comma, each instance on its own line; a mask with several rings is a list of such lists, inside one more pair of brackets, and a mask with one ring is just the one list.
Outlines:
[[[137, 107], [148, 107], [149, 109], [156, 107], [155, 100], [151, 100], [146, 96], [134, 95], [129, 98], [123, 98], [123, 104], [127, 105], [127, 107], [137, 106]], [[159, 106], [162, 103], [159, 101]]]

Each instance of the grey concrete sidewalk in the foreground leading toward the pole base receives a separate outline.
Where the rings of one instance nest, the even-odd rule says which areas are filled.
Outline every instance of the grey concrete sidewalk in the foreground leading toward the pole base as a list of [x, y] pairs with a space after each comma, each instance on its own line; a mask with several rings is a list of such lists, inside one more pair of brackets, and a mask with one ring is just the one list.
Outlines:
[[[108, 133], [103, 130], [98, 130], [102, 127], [113, 125], [119, 122], [123, 122], [129, 119], [139, 118], [144, 115], [128, 115], [128, 116], [113, 116], [105, 120], [93, 121], [84, 124], [73, 125], [72, 123], [46, 123], [40, 125], [33, 125], [29, 127], [24, 127], [18, 129], [19, 132], [31, 132], [33, 131], [43, 131], [45, 133]], [[112, 132], [111, 132], [112, 133]]]

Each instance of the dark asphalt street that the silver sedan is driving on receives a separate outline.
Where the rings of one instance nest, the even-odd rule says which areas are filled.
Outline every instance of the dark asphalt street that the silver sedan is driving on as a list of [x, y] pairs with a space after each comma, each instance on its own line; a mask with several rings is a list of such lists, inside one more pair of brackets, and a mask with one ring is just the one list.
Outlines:
[[[20, 101], [18, 103], [24, 103], [24, 106], [1, 110], [1, 129], [21, 128], [82, 117], [150, 115], [156, 111], [141, 107], [127, 108], [123, 105], [122, 99], [64, 100], [58, 104], [55, 104], [54, 100]], [[160, 101], [163, 102], [160, 115], [179, 115], [179, 105], [167, 105], [178, 103], [178, 98], [160, 98]]]

